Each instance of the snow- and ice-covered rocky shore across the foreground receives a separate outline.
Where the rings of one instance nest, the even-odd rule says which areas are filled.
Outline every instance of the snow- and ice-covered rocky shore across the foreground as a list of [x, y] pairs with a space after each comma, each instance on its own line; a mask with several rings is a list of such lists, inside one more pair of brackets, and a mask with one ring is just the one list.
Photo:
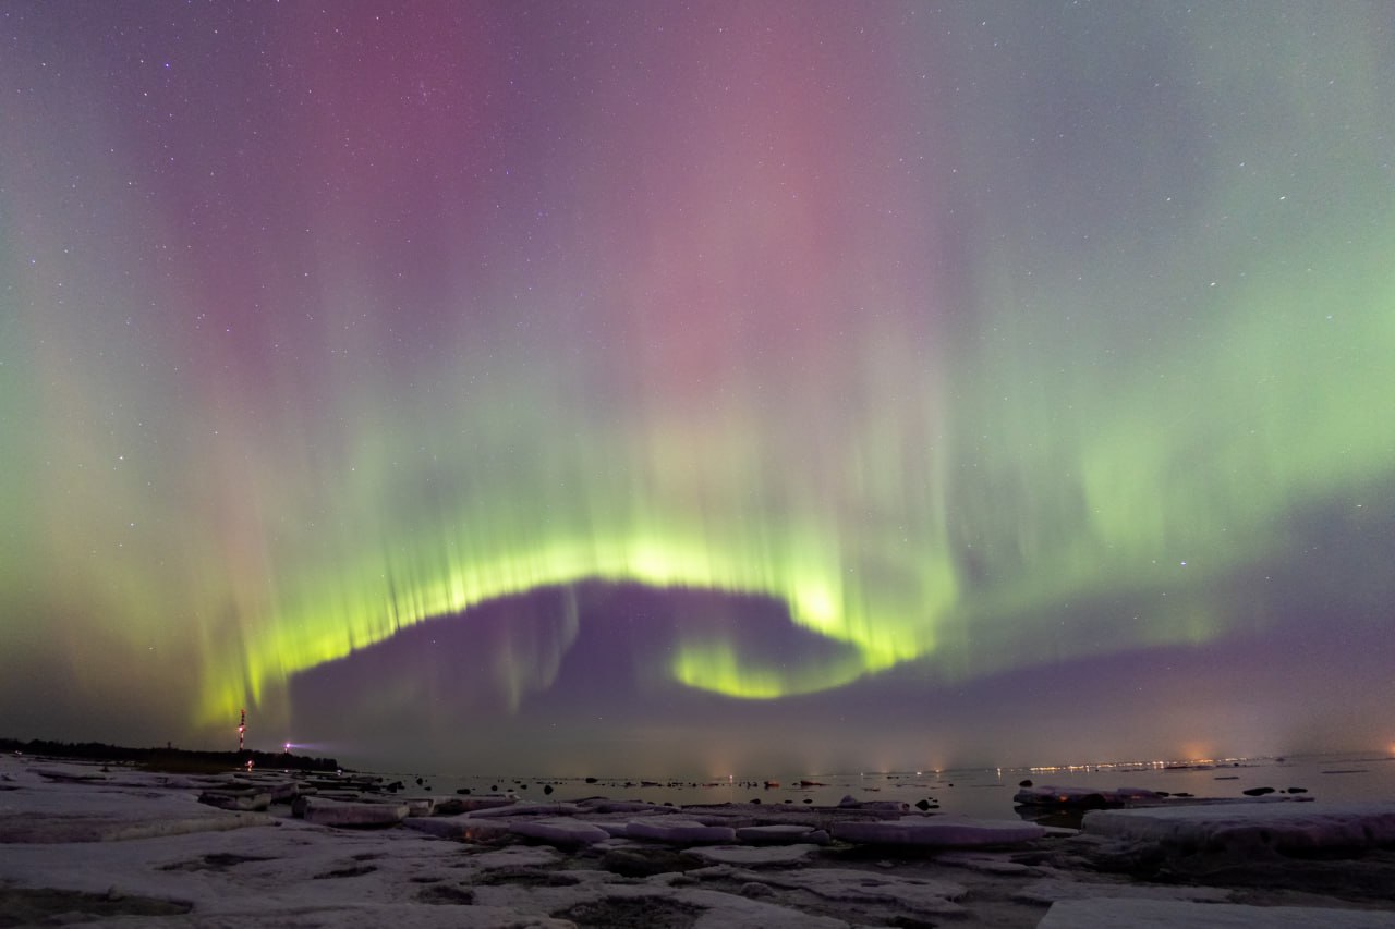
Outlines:
[[0, 757], [0, 926], [1395, 929], [1395, 802], [1099, 810], [1077, 833], [854, 798], [371, 787]]

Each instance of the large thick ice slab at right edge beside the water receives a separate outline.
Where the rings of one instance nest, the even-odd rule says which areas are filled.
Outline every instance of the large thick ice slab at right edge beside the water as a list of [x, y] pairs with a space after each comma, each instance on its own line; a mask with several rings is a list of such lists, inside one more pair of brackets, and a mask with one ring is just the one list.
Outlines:
[[1081, 827], [1094, 836], [1215, 849], [1370, 848], [1395, 843], [1395, 802], [1108, 809], [1085, 813]]

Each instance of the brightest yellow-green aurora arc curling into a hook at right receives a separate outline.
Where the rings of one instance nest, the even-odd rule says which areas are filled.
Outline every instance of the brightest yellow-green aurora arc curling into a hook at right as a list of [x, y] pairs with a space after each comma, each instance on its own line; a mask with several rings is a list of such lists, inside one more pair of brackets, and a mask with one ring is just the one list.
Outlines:
[[208, 693], [202, 721], [226, 720], [244, 699], [261, 703], [268, 685], [282, 685], [299, 671], [343, 658], [405, 626], [543, 587], [603, 580], [770, 596], [787, 604], [798, 625], [852, 647], [831, 667], [797, 670], [756, 668], [735, 651], [711, 644], [682, 647], [675, 654], [670, 671], [677, 681], [748, 699], [827, 689], [922, 657], [935, 647], [933, 618], [954, 600], [953, 572], [943, 561], [930, 562], [932, 576], [918, 579], [918, 586], [937, 594], [928, 598], [923, 612], [907, 617], [877, 605], [858, 584], [840, 582], [848, 572], [837, 566], [820, 571], [794, 558], [771, 564], [742, 554], [738, 547], [639, 537], [554, 543], [522, 557], [462, 561], [439, 579], [406, 587], [400, 577], [389, 579], [381, 571], [367, 579], [363, 572], [352, 589], [340, 583], [338, 597], [285, 610], [264, 632], [248, 637], [241, 667], [225, 665], [211, 675], [225, 685]]

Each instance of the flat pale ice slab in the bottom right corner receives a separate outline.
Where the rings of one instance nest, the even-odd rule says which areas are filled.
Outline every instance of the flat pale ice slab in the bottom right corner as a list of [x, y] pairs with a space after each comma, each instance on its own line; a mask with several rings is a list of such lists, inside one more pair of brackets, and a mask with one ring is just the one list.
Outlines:
[[1180, 900], [1063, 900], [1052, 904], [1036, 929], [1391, 929], [1395, 912], [1317, 907], [1243, 907]]

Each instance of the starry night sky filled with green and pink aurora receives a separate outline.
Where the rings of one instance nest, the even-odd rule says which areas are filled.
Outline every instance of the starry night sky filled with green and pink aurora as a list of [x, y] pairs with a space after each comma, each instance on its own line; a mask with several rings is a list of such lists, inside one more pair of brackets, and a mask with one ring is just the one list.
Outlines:
[[1395, 745], [1388, 3], [0, 3], [0, 735]]

